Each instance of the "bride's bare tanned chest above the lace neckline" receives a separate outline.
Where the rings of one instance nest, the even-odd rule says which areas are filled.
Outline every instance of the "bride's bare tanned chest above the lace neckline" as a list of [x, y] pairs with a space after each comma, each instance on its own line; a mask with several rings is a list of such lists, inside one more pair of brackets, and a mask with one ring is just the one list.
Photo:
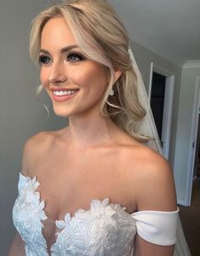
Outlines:
[[42, 235], [50, 246], [55, 242], [56, 219], [74, 216], [79, 209], [88, 210], [93, 199], [120, 204], [128, 213], [135, 211], [128, 185], [127, 168], [118, 152], [94, 151], [82, 154], [43, 156], [35, 174], [40, 182], [36, 191], [45, 202]]

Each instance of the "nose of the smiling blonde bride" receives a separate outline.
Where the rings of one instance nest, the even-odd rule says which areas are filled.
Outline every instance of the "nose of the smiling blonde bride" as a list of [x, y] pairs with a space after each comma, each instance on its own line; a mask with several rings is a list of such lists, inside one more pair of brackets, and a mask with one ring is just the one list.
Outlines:
[[63, 63], [53, 62], [48, 77], [50, 83], [61, 83], [67, 81], [66, 69]]

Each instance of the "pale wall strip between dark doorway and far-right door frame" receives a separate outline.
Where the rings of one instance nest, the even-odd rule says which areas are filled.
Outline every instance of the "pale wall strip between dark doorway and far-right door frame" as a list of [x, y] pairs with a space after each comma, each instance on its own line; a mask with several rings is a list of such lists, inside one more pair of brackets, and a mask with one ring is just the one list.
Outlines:
[[192, 133], [192, 108], [196, 77], [200, 76], [200, 66], [196, 68], [183, 68], [181, 75], [180, 105], [177, 124], [177, 136], [175, 145], [175, 185], [178, 198], [182, 204], [186, 204], [186, 187], [189, 182], [186, 179], [190, 137]]

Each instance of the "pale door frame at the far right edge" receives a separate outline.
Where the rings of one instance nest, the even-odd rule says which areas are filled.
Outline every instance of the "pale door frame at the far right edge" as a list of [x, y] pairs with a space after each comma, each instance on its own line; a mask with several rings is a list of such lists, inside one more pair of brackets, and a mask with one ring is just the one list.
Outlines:
[[192, 199], [192, 181], [194, 172], [195, 152], [197, 147], [197, 128], [198, 128], [198, 112], [200, 111], [200, 77], [196, 77], [194, 101], [192, 109], [192, 131], [190, 138], [190, 151], [187, 165], [186, 176], [186, 206], [191, 205]]

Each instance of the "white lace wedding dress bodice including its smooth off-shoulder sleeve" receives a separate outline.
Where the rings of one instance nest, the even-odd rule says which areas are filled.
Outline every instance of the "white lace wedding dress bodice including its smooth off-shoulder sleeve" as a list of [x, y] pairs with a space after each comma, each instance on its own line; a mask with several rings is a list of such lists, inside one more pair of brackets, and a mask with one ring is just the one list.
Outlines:
[[[19, 174], [19, 196], [13, 208], [14, 225], [25, 242], [28, 256], [48, 256], [47, 242], [42, 235], [45, 202], [36, 191], [40, 185], [34, 177]], [[92, 200], [89, 210], [80, 209], [71, 217], [56, 220], [56, 242], [52, 256], [131, 256], [136, 232], [148, 242], [175, 243], [175, 212], [142, 211], [127, 213], [119, 204]]]

